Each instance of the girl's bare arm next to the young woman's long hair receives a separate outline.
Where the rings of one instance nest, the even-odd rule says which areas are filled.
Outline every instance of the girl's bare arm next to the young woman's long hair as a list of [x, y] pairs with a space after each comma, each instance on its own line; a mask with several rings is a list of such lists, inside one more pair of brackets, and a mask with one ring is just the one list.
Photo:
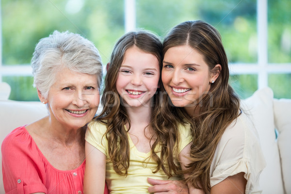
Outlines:
[[[179, 160], [180, 160], [182, 170], [185, 170], [186, 169], [185, 166], [190, 163], [189, 158], [190, 158], [191, 144], [192, 143], [184, 147], [184, 149], [179, 154]], [[184, 174], [184, 177], [187, 178], [188, 175]], [[194, 188], [194, 186], [191, 183], [187, 183], [187, 185], [189, 188], [189, 194], [204, 194], [202, 190]]]

